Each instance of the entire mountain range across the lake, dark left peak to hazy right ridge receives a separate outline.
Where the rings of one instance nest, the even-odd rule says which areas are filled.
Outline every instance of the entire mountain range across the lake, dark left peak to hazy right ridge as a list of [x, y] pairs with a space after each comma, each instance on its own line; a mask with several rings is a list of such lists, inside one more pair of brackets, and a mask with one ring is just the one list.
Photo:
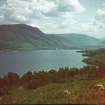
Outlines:
[[97, 47], [99, 42], [81, 34], [45, 34], [25, 24], [0, 26], [0, 50], [82, 49]]

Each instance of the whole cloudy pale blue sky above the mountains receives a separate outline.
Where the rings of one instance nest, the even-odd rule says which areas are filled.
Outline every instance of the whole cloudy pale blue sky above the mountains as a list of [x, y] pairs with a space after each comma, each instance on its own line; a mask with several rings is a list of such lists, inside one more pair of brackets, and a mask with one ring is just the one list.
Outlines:
[[0, 0], [0, 24], [105, 38], [105, 0]]

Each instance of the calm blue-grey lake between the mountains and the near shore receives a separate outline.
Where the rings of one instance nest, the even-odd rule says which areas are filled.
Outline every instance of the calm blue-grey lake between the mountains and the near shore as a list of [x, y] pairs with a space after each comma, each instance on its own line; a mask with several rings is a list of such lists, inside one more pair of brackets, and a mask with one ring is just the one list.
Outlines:
[[59, 67], [83, 67], [83, 56], [76, 50], [38, 50], [28, 52], [0, 52], [0, 75], [7, 72], [23, 74], [32, 70]]

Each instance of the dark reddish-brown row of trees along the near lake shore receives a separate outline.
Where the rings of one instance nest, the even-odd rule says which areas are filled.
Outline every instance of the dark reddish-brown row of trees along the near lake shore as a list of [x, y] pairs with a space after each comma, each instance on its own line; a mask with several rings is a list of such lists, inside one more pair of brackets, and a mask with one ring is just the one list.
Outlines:
[[27, 72], [23, 76], [17, 73], [9, 72], [3, 78], [0, 78], [0, 95], [9, 94], [10, 89], [22, 87], [26, 89], [36, 89], [50, 83], [62, 83], [68, 78], [89, 79], [96, 76], [94, 67], [77, 68], [59, 68], [58, 71], [39, 71]]

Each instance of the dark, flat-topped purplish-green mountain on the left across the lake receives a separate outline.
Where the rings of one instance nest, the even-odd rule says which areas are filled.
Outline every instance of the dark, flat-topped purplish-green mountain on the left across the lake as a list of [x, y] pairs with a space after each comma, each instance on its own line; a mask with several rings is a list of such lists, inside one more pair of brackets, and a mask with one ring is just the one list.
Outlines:
[[27, 49], [50, 49], [60, 47], [60, 42], [50, 38], [34, 28], [24, 24], [0, 26], [0, 49], [27, 50]]

